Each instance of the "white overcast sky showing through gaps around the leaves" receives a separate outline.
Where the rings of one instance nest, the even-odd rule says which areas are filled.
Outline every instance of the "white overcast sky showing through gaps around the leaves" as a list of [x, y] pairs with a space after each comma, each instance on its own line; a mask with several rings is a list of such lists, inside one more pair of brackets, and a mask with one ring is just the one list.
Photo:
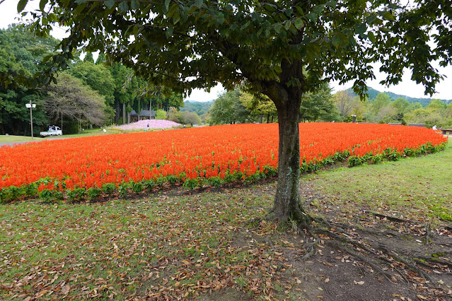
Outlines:
[[[17, 13], [17, 3], [18, 0], [5, 0], [4, 3], [0, 4], [0, 28], [7, 28], [11, 23], [18, 23], [18, 13]], [[30, 11], [30, 9], [37, 8], [39, 1], [31, 1], [30, 4], [26, 7], [26, 10]], [[58, 39], [64, 37], [64, 30], [61, 28], [55, 28], [52, 32], [52, 35]], [[433, 95], [433, 98], [440, 98], [444, 100], [452, 99], [452, 66], [448, 66], [447, 68], [439, 69], [441, 74], [447, 76], [444, 81], [436, 85], [436, 90], [438, 93]], [[429, 96], [424, 95], [424, 86], [417, 85], [415, 82], [411, 81], [411, 75], [409, 72], [405, 72], [405, 75], [402, 78], [402, 83], [390, 86], [386, 88], [383, 85], [380, 85], [379, 82], [382, 81], [385, 76], [382, 73], [376, 72], [376, 80], [367, 81], [367, 85], [370, 87], [379, 90], [379, 91], [389, 91], [401, 95], [407, 95], [412, 98], [427, 98]], [[332, 88], [335, 92], [338, 90], [344, 90], [350, 88], [352, 83], [347, 83], [345, 85], [338, 85], [338, 83], [331, 83]], [[217, 85], [214, 88], [211, 88], [210, 93], [204, 92], [203, 90], [195, 90], [191, 95], [187, 97], [187, 100], [197, 100], [197, 101], [208, 101], [214, 100], [217, 98], [217, 95], [223, 92], [224, 89], [221, 85]]]

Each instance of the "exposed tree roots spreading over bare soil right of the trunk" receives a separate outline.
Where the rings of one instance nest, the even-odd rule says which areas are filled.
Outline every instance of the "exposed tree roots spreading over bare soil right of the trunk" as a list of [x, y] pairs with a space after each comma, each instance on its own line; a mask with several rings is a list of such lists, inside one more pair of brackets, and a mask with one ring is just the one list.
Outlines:
[[[378, 213], [370, 214], [380, 218], [386, 218], [395, 223], [412, 224], [409, 220], [384, 216]], [[308, 260], [315, 254], [316, 245], [322, 241], [320, 240], [320, 235], [326, 235], [330, 237], [330, 240], [325, 240], [327, 244], [353, 256], [358, 261], [361, 261], [366, 266], [372, 268], [373, 271], [381, 274], [388, 281], [397, 281], [395, 278], [396, 276], [407, 282], [415, 282], [418, 281], [419, 278], [422, 278], [425, 283], [434, 283], [431, 276], [429, 276], [429, 273], [431, 273], [434, 268], [445, 270], [442, 272], [444, 274], [447, 274], [448, 271], [450, 272], [450, 269], [452, 269], [452, 261], [448, 261], [448, 259], [446, 259], [448, 256], [444, 256], [445, 254], [451, 254], [452, 249], [439, 249], [437, 253], [433, 253], [436, 254], [436, 256], [425, 256], [425, 253], [421, 254], [422, 251], [414, 252], [411, 249], [410, 252], [407, 252], [405, 249], [390, 250], [386, 244], [383, 244], [381, 240], [378, 240], [378, 236], [384, 237], [386, 233], [384, 231], [378, 232], [371, 229], [359, 229], [359, 233], [361, 233], [361, 235], [359, 235], [359, 233], [355, 231], [356, 227], [353, 225], [334, 223], [325, 220], [324, 218], [315, 218], [314, 221], [316, 225], [308, 229], [308, 235], [311, 235], [313, 240], [306, 242], [303, 246], [306, 251], [306, 254], [302, 257], [303, 260]], [[364, 238], [362, 235], [363, 232], [371, 233], [377, 238]], [[397, 237], [395, 233], [391, 232], [390, 234], [391, 237]], [[433, 242], [433, 234], [434, 232], [431, 232], [430, 225], [427, 224], [425, 244]], [[431, 243], [431, 245], [434, 244]], [[393, 271], [394, 274], [391, 273], [391, 271]]]

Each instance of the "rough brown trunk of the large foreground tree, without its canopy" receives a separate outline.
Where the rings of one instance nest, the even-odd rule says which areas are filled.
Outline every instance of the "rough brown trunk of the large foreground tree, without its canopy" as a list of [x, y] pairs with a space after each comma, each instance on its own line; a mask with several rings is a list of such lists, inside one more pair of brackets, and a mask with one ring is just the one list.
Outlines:
[[290, 218], [302, 228], [306, 228], [311, 223], [311, 217], [301, 206], [299, 194], [299, 103], [299, 100], [288, 100], [284, 105], [278, 106], [278, 186], [273, 213], [280, 222], [284, 223]]

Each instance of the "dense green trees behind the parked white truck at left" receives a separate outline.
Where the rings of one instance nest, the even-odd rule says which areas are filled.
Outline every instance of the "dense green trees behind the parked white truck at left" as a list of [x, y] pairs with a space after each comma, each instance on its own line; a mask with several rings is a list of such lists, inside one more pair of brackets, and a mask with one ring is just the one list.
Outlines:
[[[50, 36], [37, 37], [21, 25], [0, 30], [0, 72], [11, 78], [40, 74], [50, 66], [43, 61], [55, 54], [59, 42]], [[25, 108], [30, 101], [36, 104], [35, 135], [50, 124], [70, 134], [90, 126], [129, 123], [132, 110], [139, 114], [150, 107], [163, 110], [166, 118], [170, 107], [183, 106], [180, 93], [145, 83], [133, 76], [132, 69], [117, 62], [108, 64], [104, 54], [94, 60], [91, 52], [83, 59], [77, 52], [69, 68], [49, 85], [33, 87], [5, 80], [0, 86], [1, 134], [31, 135], [30, 114]]]

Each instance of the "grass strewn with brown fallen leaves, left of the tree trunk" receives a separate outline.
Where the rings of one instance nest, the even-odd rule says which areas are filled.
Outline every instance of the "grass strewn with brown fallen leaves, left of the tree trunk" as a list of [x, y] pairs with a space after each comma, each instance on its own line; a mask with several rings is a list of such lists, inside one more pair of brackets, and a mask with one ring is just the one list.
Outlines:
[[[1, 298], [202, 298], [224, 289], [245, 299], [272, 297], [291, 282], [279, 279], [286, 269], [282, 247], [257, 240], [275, 227], [246, 223], [265, 216], [271, 201], [250, 189], [225, 189], [4, 205]], [[257, 238], [234, 244], [242, 232]]]

